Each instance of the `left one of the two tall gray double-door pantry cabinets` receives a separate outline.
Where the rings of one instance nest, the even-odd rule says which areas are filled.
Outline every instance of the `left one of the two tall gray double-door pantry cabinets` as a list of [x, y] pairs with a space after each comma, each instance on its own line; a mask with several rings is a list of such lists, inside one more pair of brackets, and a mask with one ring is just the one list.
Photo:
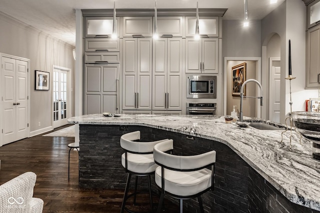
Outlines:
[[151, 110], [152, 39], [123, 38], [122, 110]]

